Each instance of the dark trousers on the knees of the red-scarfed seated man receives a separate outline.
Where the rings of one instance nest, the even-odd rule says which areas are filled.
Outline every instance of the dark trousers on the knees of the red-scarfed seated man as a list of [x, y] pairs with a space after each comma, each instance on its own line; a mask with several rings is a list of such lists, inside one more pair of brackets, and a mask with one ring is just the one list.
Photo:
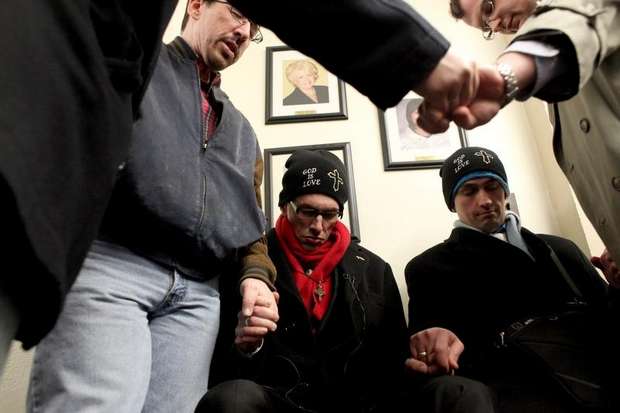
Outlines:
[[[441, 376], [426, 381], [417, 390], [394, 395], [389, 409], [375, 408], [367, 411], [394, 413], [491, 413], [493, 399], [486, 386], [457, 376]], [[343, 405], [342, 401], [334, 401]], [[336, 410], [338, 411], [338, 410]], [[344, 412], [344, 410], [340, 409]], [[292, 403], [286, 394], [249, 380], [231, 380], [210, 389], [196, 408], [196, 413], [312, 413], [303, 406]], [[328, 413], [327, 410], [317, 413]], [[331, 412], [330, 412], [331, 413]], [[335, 413], [335, 412], [334, 412]], [[346, 413], [353, 413], [347, 411]]]

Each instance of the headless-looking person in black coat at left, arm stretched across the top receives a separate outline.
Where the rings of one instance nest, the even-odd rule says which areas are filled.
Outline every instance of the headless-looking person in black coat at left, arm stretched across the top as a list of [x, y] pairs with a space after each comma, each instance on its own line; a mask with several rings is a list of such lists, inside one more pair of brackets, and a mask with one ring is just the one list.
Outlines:
[[[3, 2], [0, 371], [13, 338], [30, 348], [56, 322], [122, 169], [176, 3]], [[437, 92], [436, 101], [446, 104], [449, 96], [475, 93], [473, 62], [448, 52], [443, 36], [402, 1], [233, 3], [251, 8], [250, 17], [382, 108], [412, 88], [422, 96]], [[360, 43], [359, 31], [341, 24], [343, 15], [360, 30], [372, 26], [373, 36]], [[317, 21], [323, 22], [320, 30]], [[381, 82], [378, 67], [390, 68]]]

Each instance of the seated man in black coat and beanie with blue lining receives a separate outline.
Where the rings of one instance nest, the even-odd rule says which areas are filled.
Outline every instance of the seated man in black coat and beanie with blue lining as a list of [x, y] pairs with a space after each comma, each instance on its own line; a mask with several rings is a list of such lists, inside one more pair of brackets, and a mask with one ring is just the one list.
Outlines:
[[[619, 291], [607, 291], [572, 241], [535, 235], [520, 226], [519, 217], [506, 210], [508, 180], [491, 150], [459, 149], [446, 159], [441, 176], [446, 204], [459, 220], [446, 241], [413, 258], [405, 269], [410, 330], [437, 326], [455, 334], [464, 344], [462, 355], [462, 348], [444, 346], [441, 351], [458, 362], [460, 374], [493, 389], [500, 412], [579, 411], [544, 372], [536, 373], [527, 360], [508, 350], [498, 352], [499, 333], [516, 321], [562, 312], [574, 300], [551, 251], [582, 299], [594, 307], [607, 308]], [[435, 362], [428, 350], [431, 341], [423, 333], [414, 334], [413, 347], [428, 353], [415, 361], [420, 368]]]

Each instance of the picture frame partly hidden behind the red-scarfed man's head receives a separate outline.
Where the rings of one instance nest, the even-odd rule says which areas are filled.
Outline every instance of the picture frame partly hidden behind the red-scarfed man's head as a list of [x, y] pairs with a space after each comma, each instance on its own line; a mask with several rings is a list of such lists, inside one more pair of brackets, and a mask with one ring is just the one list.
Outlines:
[[286, 171], [286, 160], [298, 149], [317, 150], [323, 149], [338, 156], [344, 164], [349, 182], [349, 200], [345, 204], [342, 223], [349, 228], [351, 239], [360, 241], [360, 226], [357, 214], [357, 198], [355, 196], [355, 177], [353, 175], [353, 162], [351, 160], [351, 144], [349, 142], [328, 143], [320, 145], [287, 146], [281, 148], [267, 148], [264, 152], [265, 162], [265, 216], [267, 228], [273, 228], [280, 215], [278, 199], [282, 190], [282, 176]]

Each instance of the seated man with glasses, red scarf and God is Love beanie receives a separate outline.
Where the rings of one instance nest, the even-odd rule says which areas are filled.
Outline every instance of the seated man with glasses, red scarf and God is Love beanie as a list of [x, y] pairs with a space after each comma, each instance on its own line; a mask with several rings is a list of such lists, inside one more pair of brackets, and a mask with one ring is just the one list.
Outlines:
[[[468, 379], [406, 373], [409, 341], [392, 269], [351, 242], [340, 222], [349, 194], [340, 159], [299, 150], [286, 168], [282, 213], [267, 234], [278, 271], [278, 328], [267, 334], [260, 308], [258, 317], [238, 316], [232, 359], [226, 364], [225, 356], [214, 357], [223, 364], [212, 368], [217, 373], [210, 383], [220, 384], [196, 411], [490, 411]], [[223, 348], [231, 348], [230, 341], [232, 334]]]

